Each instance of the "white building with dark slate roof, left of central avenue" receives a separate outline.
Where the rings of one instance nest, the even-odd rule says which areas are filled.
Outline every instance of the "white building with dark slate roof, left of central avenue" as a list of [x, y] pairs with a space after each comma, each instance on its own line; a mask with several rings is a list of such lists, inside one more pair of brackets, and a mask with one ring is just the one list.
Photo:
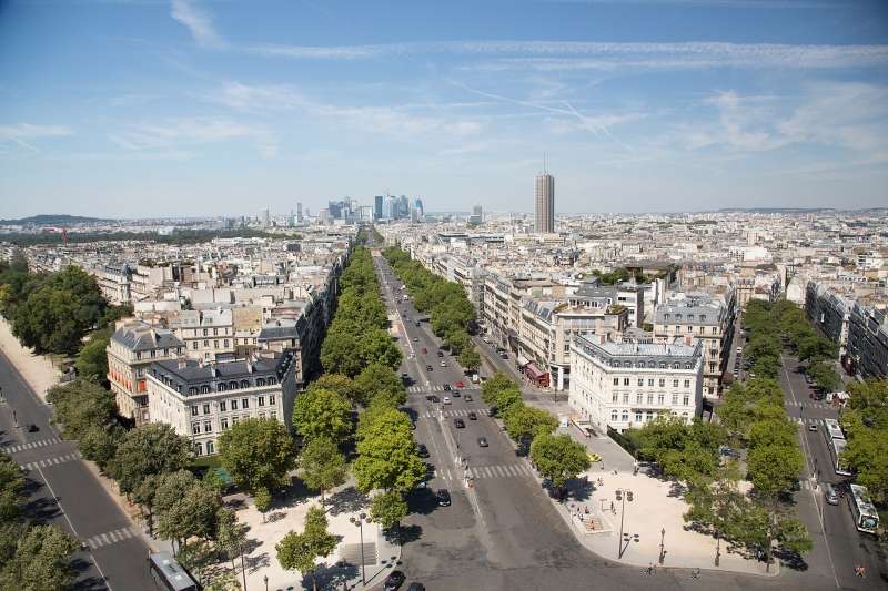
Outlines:
[[274, 418], [292, 429], [294, 365], [293, 351], [225, 363], [154, 363], [148, 374], [151, 421], [191, 439], [198, 456], [216, 454], [219, 436], [246, 418]]

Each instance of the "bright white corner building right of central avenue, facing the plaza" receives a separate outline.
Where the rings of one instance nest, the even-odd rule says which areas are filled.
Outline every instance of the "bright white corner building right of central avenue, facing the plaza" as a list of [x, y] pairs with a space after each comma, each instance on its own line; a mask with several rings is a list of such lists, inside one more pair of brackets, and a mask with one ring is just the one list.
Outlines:
[[663, 412], [690, 421], [702, 411], [704, 343], [615, 343], [574, 336], [568, 404], [574, 422], [604, 434], [637, 429]]

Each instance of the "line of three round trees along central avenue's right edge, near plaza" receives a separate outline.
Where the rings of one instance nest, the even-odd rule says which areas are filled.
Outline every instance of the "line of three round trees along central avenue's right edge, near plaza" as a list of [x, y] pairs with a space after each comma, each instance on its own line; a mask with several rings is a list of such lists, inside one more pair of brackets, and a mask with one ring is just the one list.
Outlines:
[[481, 396], [503, 418], [506, 432], [519, 451], [529, 450], [531, 461], [559, 496], [568, 479], [576, 478], [592, 465], [585, 446], [569, 435], [555, 435], [557, 419], [545, 410], [525, 405], [518, 385], [502, 371], [484, 383]]

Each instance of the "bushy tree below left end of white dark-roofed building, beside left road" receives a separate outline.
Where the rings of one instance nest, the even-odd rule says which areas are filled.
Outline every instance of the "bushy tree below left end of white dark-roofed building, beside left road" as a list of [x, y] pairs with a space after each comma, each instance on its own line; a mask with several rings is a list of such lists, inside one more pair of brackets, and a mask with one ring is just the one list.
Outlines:
[[109, 472], [130, 496], [145, 478], [174, 472], [188, 465], [191, 446], [172, 427], [151, 422], [128, 431], [118, 445]]

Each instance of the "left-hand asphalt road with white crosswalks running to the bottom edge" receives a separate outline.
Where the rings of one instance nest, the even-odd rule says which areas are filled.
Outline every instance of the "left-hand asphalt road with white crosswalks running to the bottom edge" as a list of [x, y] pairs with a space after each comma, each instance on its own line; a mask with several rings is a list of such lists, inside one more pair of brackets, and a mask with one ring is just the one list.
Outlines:
[[[0, 403], [0, 447], [28, 470], [29, 513], [74, 534], [88, 548], [74, 556], [74, 589], [155, 589], [147, 568], [148, 546], [79, 459], [77, 446], [50, 426], [50, 407], [2, 354], [0, 387], [6, 397]], [[23, 428], [29, 424], [38, 430]]]

